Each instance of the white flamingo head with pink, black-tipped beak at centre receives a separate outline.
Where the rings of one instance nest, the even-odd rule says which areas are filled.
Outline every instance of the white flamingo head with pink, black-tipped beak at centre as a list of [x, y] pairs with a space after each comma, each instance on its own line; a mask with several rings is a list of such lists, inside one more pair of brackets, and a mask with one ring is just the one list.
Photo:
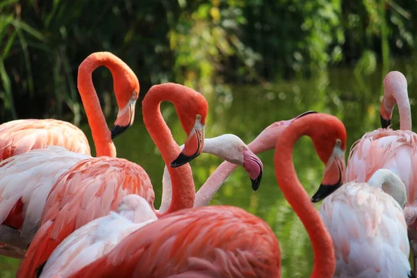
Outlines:
[[203, 152], [214, 154], [225, 161], [242, 165], [252, 181], [252, 189], [261, 184], [263, 163], [238, 136], [223, 134], [215, 138], [206, 138]]

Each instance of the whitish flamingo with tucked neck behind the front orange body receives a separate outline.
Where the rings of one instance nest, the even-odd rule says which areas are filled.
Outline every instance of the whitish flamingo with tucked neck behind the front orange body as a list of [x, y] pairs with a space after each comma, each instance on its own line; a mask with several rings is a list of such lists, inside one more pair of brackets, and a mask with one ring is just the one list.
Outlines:
[[155, 220], [156, 215], [145, 199], [128, 195], [122, 199], [118, 213], [111, 211], [65, 238], [49, 257], [40, 277], [68, 277], [106, 255], [133, 231]]

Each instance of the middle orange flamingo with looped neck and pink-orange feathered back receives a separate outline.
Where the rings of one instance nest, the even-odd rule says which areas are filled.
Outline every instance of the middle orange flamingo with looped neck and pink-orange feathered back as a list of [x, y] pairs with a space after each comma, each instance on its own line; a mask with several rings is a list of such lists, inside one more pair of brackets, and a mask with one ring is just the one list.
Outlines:
[[[159, 109], [165, 100], [174, 104], [188, 135], [182, 152]], [[143, 120], [165, 164], [183, 165], [202, 152], [207, 110], [206, 99], [186, 86], [165, 83], [149, 89], [142, 102]], [[169, 172], [174, 186], [172, 203], [166, 213], [193, 207], [195, 186], [190, 165], [170, 167]], [[108, 156], [76, 163], [52, 188], [40, 229], [28, 247], [17, 277], [35, 277], [36, 270], [65, 237], [83, 224], [114, 211], [120, 200], [129, 194], [144, 197], [154, 209], [151, 181], [139, 165]]]

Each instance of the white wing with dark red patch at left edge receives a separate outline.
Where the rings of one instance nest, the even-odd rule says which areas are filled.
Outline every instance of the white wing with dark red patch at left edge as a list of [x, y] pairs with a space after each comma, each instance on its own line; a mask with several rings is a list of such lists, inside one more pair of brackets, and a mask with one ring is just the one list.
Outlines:
[[[48, 146], [1, 161], [0, 224], [19, 230], [22, 237], [30, 240], [58, 177], [88, 157], [63, 147]], [[6, 236], [2, 234], [0, 238]]]

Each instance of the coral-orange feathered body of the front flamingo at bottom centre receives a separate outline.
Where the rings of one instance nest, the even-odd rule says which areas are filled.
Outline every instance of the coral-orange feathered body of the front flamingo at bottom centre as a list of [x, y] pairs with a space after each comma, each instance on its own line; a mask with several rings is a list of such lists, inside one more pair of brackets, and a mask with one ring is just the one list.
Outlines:
[[207, 206], [133, 231], [71, 277], [262, 278], [278, 277], [279, 267], [279, 244], [268, 224], [241, 208]]

